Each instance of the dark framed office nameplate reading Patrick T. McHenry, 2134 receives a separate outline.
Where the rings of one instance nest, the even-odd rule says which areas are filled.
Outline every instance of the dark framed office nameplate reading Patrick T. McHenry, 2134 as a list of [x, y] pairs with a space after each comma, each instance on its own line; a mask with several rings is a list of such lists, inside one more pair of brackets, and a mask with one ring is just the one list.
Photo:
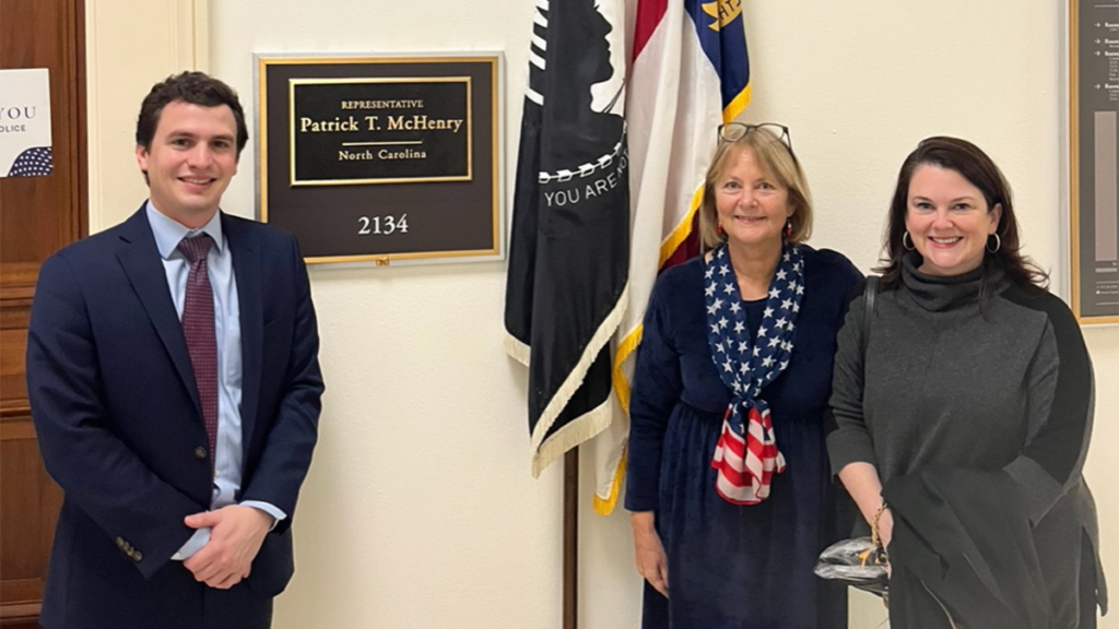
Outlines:
[[504, 256], [499, 54], [255, 62], [257, 216], [308, 263]]

